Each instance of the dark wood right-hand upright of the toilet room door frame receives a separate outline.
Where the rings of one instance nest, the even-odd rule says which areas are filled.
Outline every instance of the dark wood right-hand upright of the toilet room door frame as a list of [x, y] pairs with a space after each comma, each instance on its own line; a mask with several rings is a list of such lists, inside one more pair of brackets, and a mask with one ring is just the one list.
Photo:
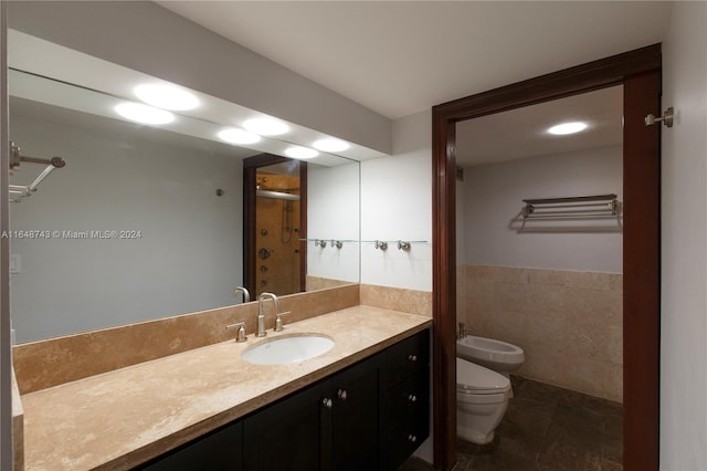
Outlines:
[[657, 470], [661, 338], [661, 72], [624, 81], [624, 469]]

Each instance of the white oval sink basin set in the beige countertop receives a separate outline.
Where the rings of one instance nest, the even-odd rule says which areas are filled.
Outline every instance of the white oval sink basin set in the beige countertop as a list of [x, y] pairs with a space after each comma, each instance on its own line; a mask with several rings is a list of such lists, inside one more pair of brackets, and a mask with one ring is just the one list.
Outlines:
[[247, 347], [242, 358], [255, 365], [284, 365], [319, 356], [334, 346], [334, 341], [320, 334], [291, 334], [262, 341]]

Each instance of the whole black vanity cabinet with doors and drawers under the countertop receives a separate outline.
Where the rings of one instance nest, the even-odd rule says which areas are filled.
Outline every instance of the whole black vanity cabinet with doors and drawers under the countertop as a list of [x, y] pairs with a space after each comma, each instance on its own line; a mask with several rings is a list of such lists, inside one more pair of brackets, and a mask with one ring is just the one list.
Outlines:
[[429, 358], [425, 329], [140, 469], [394, 471], [429, 436]]

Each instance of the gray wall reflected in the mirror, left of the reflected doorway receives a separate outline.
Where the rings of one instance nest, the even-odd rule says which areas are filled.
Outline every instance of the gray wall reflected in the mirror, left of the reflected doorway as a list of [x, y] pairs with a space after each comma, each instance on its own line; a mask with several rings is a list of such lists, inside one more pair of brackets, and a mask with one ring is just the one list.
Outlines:
[[[62, 232], [11, 240], [21, 261], [11, 275], [18, 342], [233, 304], [243, 263], [239, 158], [28, 116], [12, 115], [11, 136], [23, 154], [67, 161], [11, 206], [13, 231]], [[41, 168], [23, 164], [12, 182]], [[122, 230], [140, 234], [64, 234]]]

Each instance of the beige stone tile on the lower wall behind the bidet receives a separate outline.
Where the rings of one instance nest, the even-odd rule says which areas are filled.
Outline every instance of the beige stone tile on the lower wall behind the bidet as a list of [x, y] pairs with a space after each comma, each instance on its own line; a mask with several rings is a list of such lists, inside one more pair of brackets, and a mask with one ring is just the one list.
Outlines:
[[620, 273], [461, 265], [457, 321], [524, 348], [521, 376], [622, 401]]

